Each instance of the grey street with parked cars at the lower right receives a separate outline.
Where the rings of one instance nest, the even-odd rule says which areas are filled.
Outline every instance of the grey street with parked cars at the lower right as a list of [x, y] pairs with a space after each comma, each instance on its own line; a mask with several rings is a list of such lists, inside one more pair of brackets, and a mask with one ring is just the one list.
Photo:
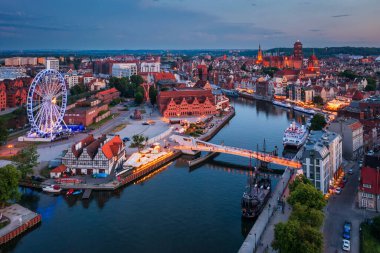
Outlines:
[[325, 222], [323, 225], [324, 251], [336, 253], [342, 251], [342, 234], [344, 221], [352, 222], [351, 252], [359, 252], [359, 227], [365, 218], [377, 216], [375, 212], [365, 211], [357, 207], [357, 189], [359, 186], [359, 166], [357, 162], [350, 162], [346, 170], [353, 169], [353, 174], [347, 174], [347, 183], [340, 195], [333, 195], [325, 208]]

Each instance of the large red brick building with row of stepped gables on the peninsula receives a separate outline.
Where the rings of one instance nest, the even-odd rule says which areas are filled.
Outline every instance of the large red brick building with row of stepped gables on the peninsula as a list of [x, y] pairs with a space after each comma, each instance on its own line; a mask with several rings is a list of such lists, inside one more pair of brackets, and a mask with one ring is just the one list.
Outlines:
[[211, 90], [184, 88], [161, 91], [157, 103], [164, 117], [186, 117], [216, 114], [215, 97]]

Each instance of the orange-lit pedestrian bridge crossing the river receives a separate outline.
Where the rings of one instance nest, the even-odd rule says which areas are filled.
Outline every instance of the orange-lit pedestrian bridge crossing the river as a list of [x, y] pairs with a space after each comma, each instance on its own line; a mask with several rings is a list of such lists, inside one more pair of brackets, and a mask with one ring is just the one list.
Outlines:
[[178, 145], [174, 146], [173, 148], [181, 150], [185, 154], [194, 154], [194, 151], [218, 152], [248, 158], [255, 158], [263, 162], [274, 163], [295, 169], [300, 169], [302, 167], [302, 164], [298, 161], [274, 156], [271, 154], [265, 154], [262, 152], [252, 151], [249, 149], [213, 144], [205, 141], [200, 141], [192, 137], [184, 137], [180, 135], [172, 135], [170, 138], [171, 140], [178, 143]]

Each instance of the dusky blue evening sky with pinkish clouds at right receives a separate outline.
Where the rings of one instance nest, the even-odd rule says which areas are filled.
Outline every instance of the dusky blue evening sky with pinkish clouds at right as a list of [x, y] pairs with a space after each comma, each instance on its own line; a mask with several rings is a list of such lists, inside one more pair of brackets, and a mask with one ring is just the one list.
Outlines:
[[0, 0], [0, 50], [380, 47], [379, 0]]

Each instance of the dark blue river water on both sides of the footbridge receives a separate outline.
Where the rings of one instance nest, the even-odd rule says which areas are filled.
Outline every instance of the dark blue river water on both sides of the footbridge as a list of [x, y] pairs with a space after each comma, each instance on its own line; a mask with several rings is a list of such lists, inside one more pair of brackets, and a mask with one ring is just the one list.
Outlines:
[[[284, 129], [305, 120], [263, 101], [232, 104], [236, 116], [211, 142], [256, 150], [265, 138], [267, 150], [277, 145], [281, 154]], [[42, 223], [0, 252], [236, 252], [253, 225], [240, 211], [249, 159], [221, 154], [192, 170], [186, 159], [88, 201], [24, 189], [20, 203], [40, 213]]]

